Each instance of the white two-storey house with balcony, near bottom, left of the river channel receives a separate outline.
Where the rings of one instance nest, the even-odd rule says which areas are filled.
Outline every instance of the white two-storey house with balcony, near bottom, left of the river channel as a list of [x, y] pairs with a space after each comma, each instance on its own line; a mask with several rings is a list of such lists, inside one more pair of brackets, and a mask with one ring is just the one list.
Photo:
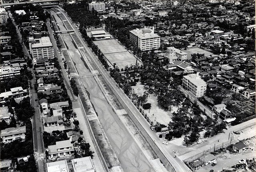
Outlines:
[[74, 153], [74, 146], [70, 143], [70, 140], [64, 140], [48, 146], [48, 150], [51, 158], [63, 158]]

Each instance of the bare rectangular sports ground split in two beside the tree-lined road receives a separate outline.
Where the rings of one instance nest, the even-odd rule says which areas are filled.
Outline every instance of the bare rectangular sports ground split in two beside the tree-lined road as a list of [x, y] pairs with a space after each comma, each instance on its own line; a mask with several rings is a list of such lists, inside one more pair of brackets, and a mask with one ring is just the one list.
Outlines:
[[112, 65], [116, 63], [120, 69], [136, 64], [136, 58], [114, 39], [97, 40], [94, 44]]

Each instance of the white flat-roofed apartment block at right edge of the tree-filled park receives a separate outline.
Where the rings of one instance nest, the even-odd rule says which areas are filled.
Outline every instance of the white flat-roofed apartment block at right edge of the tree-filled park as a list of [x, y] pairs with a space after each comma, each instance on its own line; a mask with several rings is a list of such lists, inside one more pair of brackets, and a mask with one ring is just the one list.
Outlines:
[[204, 80], [197, 74], [183, 76], [182, 87], [196, 98], [204, 96], [206, 86], [206, 82], [204, 82]]

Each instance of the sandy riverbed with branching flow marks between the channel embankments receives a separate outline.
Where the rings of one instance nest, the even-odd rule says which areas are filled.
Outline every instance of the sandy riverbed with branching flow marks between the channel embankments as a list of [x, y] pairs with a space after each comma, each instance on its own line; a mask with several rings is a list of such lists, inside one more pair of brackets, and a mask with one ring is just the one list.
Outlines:
[[[79, 36], [78, 32], [76, 32], [76, 34]], [[82, 40], [80, 41], [82, 42]], [[66, 44], [69, 43], [66, 42]], [[91, 74], [90, 71], [85, 68], [80, 58], [73, 57], [72, 60], [74, 61], [74, 64], [76, 64], [76, 69], [78, 70], [79, 75]], [[81, 78], [81, 81], [90, 93], [90, 100], [94, 105], [98, 118], [102, 123], [112, 148], [118, 156], [118, 160], [120, 161], [123, 170], [125, 172], [154, 171], [132, 136], [130, 136], [125, 126], [112, 110], [112, 107], [104, 98], [94, 78]]]

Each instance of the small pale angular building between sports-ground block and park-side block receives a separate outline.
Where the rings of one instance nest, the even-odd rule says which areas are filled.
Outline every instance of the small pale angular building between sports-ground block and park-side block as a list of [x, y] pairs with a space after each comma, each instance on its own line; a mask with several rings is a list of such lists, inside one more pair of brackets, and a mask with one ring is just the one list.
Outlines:
[[166, 56], [169, 58], [169, 62], [173, 63], [176, 60], [187, 60], [188, 53], [174, 47], [167, 47]]

